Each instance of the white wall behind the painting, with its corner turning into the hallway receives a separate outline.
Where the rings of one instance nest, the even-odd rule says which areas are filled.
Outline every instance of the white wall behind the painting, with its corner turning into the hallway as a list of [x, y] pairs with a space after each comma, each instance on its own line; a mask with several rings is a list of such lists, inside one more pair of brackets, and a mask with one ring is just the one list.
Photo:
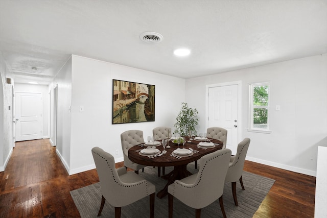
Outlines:
[[[62, 142], [57, 141], [57, 153], [70, 175], [95, 168], [91, 155], [91, 149], [95, 146], [113, 154], [116, 162], [123, 161], [120, 134], [124, 131], [142, 130], [146, 138], [152, 135], [152, 129], [157, 126], [173, 128], [181, 103], [185, 101], [184, 79], [75, 55], [72, 56], [71, 66], [71, 95], [68, 88], [71, 80], [68, 63], [54, 82], [58, 83], [58, 139], [66, 138], [61, 139]], [[113, 79], [155, 85], [154, 122], [112, 125]], [[60, 90], [63, 84], [67, 86], [65, 95]], [[59, 104], [62, 105], [60, 109]], [[66, 114], [69, 106], [71, 113]], [[79, 112], [79, 106], [84, 107], [84, 112]], [[67, 125], [59, 124], [63, 122], [61, 119], [65, 119]], [[70, 130], [67, 119], [71, 119]], [[116, 150], [119, 151], [118, 155], [115, 155]], [[64, 152], [69, 152], [69, 157]]]

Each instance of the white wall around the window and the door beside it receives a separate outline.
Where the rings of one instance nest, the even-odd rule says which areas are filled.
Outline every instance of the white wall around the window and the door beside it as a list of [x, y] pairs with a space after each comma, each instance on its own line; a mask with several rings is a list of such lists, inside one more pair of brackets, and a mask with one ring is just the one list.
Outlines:
[[[186, 80], [186, 102], [205, 129], [205, 85], [242, 81], [242, 133], [247, 159], [315, 176], [317, 147], [327, 137], [327, 54]], [[248, 132], [248, 85], [269, 81], [271, 134]], [[281, 106], [280, 111], [274, 108]]]

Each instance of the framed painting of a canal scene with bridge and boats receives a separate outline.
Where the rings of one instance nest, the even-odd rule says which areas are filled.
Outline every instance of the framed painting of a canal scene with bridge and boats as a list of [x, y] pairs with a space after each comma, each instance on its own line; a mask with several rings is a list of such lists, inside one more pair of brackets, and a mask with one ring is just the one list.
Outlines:
[[112, 124], [154, 121], [154, 85], [112, 80], [112, 87]]

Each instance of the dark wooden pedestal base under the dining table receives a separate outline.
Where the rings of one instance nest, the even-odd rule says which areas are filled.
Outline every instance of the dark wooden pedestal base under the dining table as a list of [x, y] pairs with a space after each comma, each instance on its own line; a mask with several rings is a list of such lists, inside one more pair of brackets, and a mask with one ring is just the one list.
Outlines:
[[175, 180], [181, 180], [185, 177], [191, 176], [192, 174], [186, 169], [186, 165], [174, 166], [172, 172], [166, 175], [162, 175], [161, 178], [168, 180], [165, 187], [157, 193], [158, 198], [163, 198], [168, 194], [168, 186], [173, 184]]

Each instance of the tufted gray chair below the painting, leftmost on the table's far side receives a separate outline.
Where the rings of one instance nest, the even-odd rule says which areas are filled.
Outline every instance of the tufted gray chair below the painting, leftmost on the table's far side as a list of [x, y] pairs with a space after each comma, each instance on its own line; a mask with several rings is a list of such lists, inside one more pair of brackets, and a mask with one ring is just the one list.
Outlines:
[[146, 167], [145, 165], [134, 163], [128, 158], [128, 150], [131, 147], [136, 146], [136, 144], [144, 143], [143, 131], [141, 130], [125, 131], [121, 134], [121, 141], [122, 141], [122, 149], [123, 149], [123, 156], [124, 156], [124, 166], [134, 169], [136, 174], [138, 174], [139, 169], [143, 169], [144, 171], [144, 167]]

